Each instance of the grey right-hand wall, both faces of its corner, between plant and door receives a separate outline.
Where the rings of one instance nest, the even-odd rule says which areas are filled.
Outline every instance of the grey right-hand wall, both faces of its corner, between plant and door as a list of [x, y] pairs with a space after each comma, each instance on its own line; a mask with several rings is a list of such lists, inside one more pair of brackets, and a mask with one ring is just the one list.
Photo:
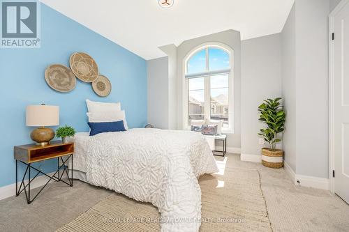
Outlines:
[[328, 178], [329, 9], [329, 0], [296, 0], [281, 33], [285, 161], [318, 178]]

